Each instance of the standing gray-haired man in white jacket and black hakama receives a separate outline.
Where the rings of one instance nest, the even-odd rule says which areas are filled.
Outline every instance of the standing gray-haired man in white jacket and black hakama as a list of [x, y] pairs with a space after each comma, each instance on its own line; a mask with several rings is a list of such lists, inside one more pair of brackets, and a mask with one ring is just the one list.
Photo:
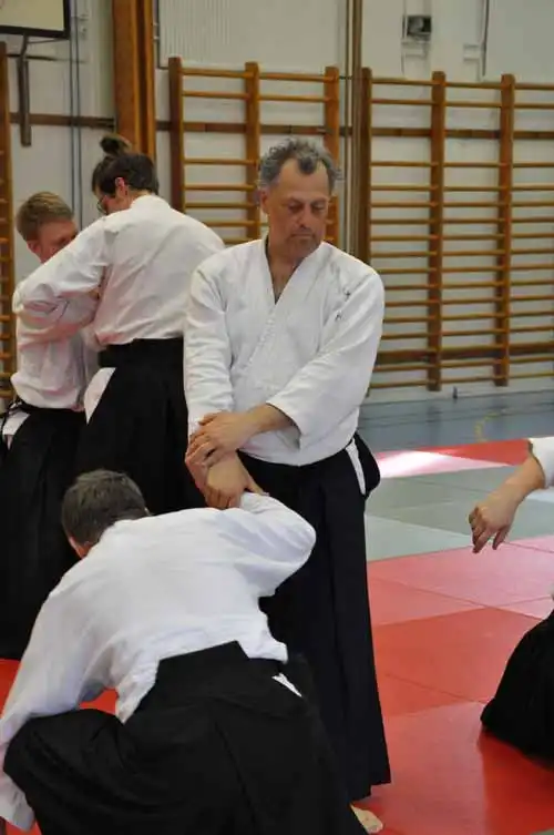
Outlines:
[[383, 287], [325, 242], [338, 172], [293, 139], [259, 171], [269, 232], [193, 276], [185, 324], [187, 464], [208, 505], [259, 489], [317, 531], [308, 563], [265, 602], [308, 660], [352, 802], [390, 780], [376, 683], [363, 512], [379, 483], [357, 435], [381, 337]]

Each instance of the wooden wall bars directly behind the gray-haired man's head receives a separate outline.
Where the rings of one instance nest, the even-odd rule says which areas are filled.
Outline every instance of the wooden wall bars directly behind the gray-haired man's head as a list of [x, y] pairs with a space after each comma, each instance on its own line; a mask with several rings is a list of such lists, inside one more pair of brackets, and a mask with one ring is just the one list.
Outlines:
[[[172, 122], [172, 201], [182, 211], [198, 216], [222, 235], [228, 244], [238, 244], [260, 236], [263, 218], [257, 203], [258, 163], [263, 153], [261, 136], [273, 131], [264, 130], [261, 112], [266, 105], [287, 105], [304, 115], [307, 108], [316, 105], [320, 121], [308, 130], [287, 125], [275, 129], [279, 133], [308, 133], [321, 135], [324, 143], [338, 160], [340, 155], [340, 78], [336, 67], [324, 73], [298, 74], [264, 72], [258, 64], [248, 62], [243, 70], [212, 70], [184, 67], [181, 59], [170, 59], [170, 106]], [[304, 94], [302, 86], [317, 88]], [[291, 92], [291, 89], [295, 92]], [[220, 153], [201, 153], [206, 145], [197, 131], [191, 130], [187, 120], [191, 102], [201, 101], [209, 110], [209, 122], [203, 133], [224, 134]], [[240, 122], [219, 121], [219, 113], [242, 109]], [[198, 125], [198, 122], [195, 122]], [[196, 142], [194, 140], [196, 139]], [[199, 141], [198, 141], [199, 140]], [[211, 143], [212, 146], [214, 143]], [[268, 142], [266, 142], [267, 146]], [[236, 147], [236, 154], [229, 153]], [[209, 149], [209, 145], [208, 145]], [[199, 172], [211, 172], [203, 176]], [[329, 216], [328, 240], [339, 242], [339, 208], [334, 202]]]

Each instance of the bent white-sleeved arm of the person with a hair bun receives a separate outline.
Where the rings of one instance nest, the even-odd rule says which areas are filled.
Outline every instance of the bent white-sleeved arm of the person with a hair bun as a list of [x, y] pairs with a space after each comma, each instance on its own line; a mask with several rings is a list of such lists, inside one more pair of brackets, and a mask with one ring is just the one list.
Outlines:
[[105, 224], [100, 220], [18, 284], [13, 313], [38, 340], [72, 336], [92, 322], [109, 263]]

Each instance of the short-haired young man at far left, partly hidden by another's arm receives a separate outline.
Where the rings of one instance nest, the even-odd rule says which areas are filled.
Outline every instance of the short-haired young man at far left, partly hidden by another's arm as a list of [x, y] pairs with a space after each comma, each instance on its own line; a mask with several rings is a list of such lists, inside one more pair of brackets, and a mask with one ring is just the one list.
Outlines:
[[[72, 210], [51, 192], [28, 197], [16, 227], [41, 264], [78, 234]], [[83, 298], [78, 307], [79, 316], [92, 315], [95, 302]], [[74, 477], [83, 395], [96, 362], [81, 333], [50, 342], [19, 319], [16, 346], [16, 397], [0, 419], [0, 658], [10, 659], [21, 658], [40, 607], [74, 562], [60, 508]]]

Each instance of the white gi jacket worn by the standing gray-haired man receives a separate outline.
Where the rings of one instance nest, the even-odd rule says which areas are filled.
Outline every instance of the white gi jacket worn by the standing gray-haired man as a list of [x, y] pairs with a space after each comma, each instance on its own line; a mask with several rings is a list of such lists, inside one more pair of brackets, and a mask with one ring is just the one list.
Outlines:
[[358, 427], [382, 330], [379, 275], [322, 243], [275, 301], [265, 241], [196, 271], [185, 319], [189, 431], [211, 411], [264, 403], [295, 427], [255, 436], [244, 451], [306, 465], [345, 449]]

